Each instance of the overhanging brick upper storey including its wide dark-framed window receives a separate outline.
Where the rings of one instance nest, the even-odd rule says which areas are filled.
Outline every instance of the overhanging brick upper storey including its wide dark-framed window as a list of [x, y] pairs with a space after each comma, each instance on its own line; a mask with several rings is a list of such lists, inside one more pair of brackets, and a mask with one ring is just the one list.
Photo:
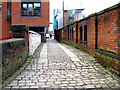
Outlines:
[[12, 2], [12, 24], [49, 26], [49, 2]]

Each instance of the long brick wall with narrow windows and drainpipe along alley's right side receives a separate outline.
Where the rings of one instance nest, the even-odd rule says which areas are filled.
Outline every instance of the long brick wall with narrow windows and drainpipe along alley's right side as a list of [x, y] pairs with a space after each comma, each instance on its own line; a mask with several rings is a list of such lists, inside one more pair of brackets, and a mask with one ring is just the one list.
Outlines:
[[[119, 18], [120, 4], [91, 14], [68, 26], [69, 41], [74, 41], [74, 44], [76, 44], [78, 38], [78, 43], [87, 46], [89, 52], [93, 55], [95, 55], [95, 49], [100, 48], [120, 53]], [[76, 27], [78, 27], [78, 36], [76, 35]], [[73, 31], [74, 28], [75, 31]]]

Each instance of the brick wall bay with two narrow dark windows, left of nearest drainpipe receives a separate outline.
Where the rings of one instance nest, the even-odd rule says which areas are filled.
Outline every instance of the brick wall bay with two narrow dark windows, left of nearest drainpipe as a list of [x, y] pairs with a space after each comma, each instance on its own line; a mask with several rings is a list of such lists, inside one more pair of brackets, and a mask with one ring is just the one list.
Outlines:
[[95, 51], [95, 16], [78, 23], [78, 43], [89, 46], [89, 52]]

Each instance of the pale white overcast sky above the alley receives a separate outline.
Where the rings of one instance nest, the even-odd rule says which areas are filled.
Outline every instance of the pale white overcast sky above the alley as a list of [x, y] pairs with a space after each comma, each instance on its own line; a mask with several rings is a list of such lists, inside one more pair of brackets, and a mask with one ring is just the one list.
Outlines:
[[[63, 8], [63, 0], [50, 0], [50, 22], [53, 22], [53, 9]], [[120, 2], [120, 0], [64, 0], [64, 9], [83, 9], [85, 16], [99, 12]], [[52, 29], [52, 25], [51, 28]]]

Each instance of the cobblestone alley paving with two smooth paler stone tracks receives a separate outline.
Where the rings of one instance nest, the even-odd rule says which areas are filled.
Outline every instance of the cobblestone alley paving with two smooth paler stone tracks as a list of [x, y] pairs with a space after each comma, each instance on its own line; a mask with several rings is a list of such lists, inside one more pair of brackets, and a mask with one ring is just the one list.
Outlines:
[[26, 70], [5, 88], [116, 90], [118, 87], [118, 80], [92, 56], [55, 40], [48, 40], [43, 45], [40, 57], [34, 59]]

